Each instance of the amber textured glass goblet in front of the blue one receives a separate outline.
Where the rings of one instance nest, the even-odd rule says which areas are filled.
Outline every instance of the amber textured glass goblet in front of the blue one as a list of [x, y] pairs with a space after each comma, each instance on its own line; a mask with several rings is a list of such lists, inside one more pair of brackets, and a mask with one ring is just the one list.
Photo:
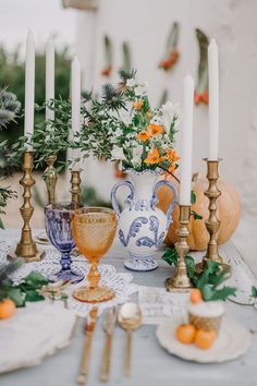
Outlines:
[[72, 231], [78, 251], [87, 258], [90, 269], [88, 286], [76, 289], [73, 297], [87, 303], [105, 302], [114, 298], [109, 287], [100, 287], [99, 260], [111, 246], [117, 230], [117, 217], [112, 209], [87, 206], [73, 213]]

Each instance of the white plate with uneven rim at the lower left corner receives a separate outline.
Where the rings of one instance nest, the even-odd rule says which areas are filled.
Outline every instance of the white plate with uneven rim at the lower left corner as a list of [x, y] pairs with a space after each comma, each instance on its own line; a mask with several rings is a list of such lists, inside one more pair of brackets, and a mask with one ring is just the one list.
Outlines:
[[0, 321], [0, 373], [39, 364], [70, 343], [76, 323], [61, 303], [27, 303], [10, 319]]

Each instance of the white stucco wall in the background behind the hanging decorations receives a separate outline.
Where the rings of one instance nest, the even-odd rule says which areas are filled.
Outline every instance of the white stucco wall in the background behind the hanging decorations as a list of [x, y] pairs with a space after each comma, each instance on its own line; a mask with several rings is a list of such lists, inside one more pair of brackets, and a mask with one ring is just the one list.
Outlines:
[[[86, 47], [86, 37], [94, 25], [94, 47]], [[158, 69], [166, 37], [174, 21], [181, 25], [179, 49], [181, 58], [168, 73]], [[163, 88], [171, 100], [181, 101], [182, 81], [186, 72], [197, 72], [198, 47], [194, 28], [199, 27], [216, 37], [220, 53], [220, 173], [234, 183], [241, 193], [243, 217], [236, 241], [244, 253], [254, 257], [257, 224], [257, 1], [256, 0], [101, 0], [97, 15], [79, 12], [77, 19], [78, 56], [90, 76], [88, 84], [99, 87], [103, 63], [102, 37], [113, 41], [114, 65], [121, 65], [121, 45], [132, 47], [133, 63], [138, 77], [149, 81], [150, 99], [158, 102]], [[94, 52], [94, 58], [93, 53]], [[114, 71], [115, 72], [115, 71]], [[86, 80], [85, 77], [85, 80]], [[113, 75], [111, 81], [115, 81]], [[85, 83], [85, 85], [86, 85]], [[207, 156], [208, 108], [195, 108], [194, 170], [205, 172], [203, 158]], [[180, 149], [180, 135], [178, 148]], [[100, 174], [105, 166], [100, 166]], [[113, 183], [108, 171], [106, 195]], [[89, 183], [97, 182], [96, 169], [86, 172]], [[246, 219], [246, 220], [245, 220]], [[246, 231], [247, 229], [247, 231]], [[247, 248], [245, 248], [247, 245]]]

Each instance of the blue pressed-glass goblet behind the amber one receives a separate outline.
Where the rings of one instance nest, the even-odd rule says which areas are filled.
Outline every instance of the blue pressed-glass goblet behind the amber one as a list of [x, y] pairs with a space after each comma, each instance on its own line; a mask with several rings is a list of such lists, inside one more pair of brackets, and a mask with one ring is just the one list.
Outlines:
[[56, 203], [45, 207], [47, 236], [52, 245], [61, 252], [61, 270], [49, 278], [52, 281], [71, 280], [76, 284], [84, 279], [83, 274], [71, 267], [71, 251], [75, 246], [71, 229], [74, 209], [73, 203]]

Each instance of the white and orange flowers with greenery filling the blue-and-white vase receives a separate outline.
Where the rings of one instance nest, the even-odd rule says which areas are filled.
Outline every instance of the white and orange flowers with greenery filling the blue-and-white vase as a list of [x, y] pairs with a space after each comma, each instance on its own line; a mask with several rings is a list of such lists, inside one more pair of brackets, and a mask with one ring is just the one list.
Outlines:
[[90, 100], [89, 108], [86, 104], [83, 114], [79, 148], [85, 157], [93, 154], [136, 171], [161, 168], [173, 173], [176, 169], [178, 105], [168, 101], [151, 109], [147, 83], [138, 84], [134, 72], [118, 88], [103, 86], [101, 99]]

